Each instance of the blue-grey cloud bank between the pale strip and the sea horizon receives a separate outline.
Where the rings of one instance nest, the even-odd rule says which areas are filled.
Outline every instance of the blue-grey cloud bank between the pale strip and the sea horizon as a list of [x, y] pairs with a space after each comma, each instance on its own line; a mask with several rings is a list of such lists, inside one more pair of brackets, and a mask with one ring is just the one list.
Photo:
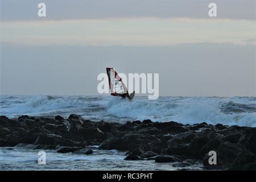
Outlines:
[[24, 46], [1, 44], [2, 94], [96, 95], [106, 67], [159, 73], [161, 96], [254, 96], [255, 45]]

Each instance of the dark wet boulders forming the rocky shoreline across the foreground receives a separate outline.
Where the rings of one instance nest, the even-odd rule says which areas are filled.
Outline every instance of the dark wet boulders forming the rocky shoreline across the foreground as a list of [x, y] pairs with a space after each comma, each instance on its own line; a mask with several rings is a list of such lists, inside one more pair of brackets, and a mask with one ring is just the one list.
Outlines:
[[[204, 169], [256, 170], [256, 128], [241, 126], [183, 125], [150, 120], [126, 123], [93, 122], [80, 115], [67, 119], [0, 117], [0, 147], [33, 144], [34, 149], [90, 155], [100, 150], [127, 151], [125, 160], [176, 162], [178, 167], [203, 163]], [[208, 162], [216, 151], [217, 164]], [[171, 163], [170, 163], [171, 165]]]

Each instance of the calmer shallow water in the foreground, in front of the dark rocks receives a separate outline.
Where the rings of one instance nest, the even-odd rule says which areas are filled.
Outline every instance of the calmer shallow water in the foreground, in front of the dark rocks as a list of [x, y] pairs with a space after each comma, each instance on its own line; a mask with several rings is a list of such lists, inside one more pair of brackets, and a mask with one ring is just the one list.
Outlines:
[[200, 170], [203, 164], [188, 167], [173, 167], [176, 163], [155, 163], [154, 160], [131, 161], [125, 159], [125, 153], [116, 150], [94, 150], [90, 155], [60, 154], [45, 150], [46, 164], [39, 165], [38, 152], [30, 147], [0, 147], [0, 170]]

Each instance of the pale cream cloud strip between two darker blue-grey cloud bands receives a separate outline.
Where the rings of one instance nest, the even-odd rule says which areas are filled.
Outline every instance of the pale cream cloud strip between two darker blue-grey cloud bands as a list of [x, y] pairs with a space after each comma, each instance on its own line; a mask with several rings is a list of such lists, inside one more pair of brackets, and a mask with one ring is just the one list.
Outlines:
[[254, 22], [227, 19], [81, 19], [3, 22], [1, 41], [32, 45], [166, 46], [184, 43], [247, 44]]

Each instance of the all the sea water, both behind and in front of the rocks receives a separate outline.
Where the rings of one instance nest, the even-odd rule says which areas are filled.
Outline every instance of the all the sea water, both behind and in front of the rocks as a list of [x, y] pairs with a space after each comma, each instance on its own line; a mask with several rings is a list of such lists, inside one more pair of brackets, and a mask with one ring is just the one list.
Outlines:
[[[256, 127], [256, 97], [134, 97], [129, 101], [112, 96], [1, 96], [0, 115], [54, 117], [80, 114], [92, 121], [120, 122], [151, 119], [183, 124]], [[97, 146], [94, 146], [97, 148]], [[46, 165], [38, 164], [39, 150], [29, 146], [0, 147], [0, 170], [178, 170], [154, 160], [127, 161], [125, 152], [94, 150], [92, 155], [59, 154], [46, 150]], [[201, 169], [195, 164], [188, 169]]]

